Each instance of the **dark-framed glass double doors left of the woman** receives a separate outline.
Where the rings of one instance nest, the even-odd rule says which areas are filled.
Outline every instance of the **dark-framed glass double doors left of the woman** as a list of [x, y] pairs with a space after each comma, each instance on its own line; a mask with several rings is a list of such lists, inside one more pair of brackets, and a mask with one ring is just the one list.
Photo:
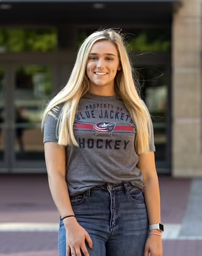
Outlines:
[[4, 54], [0, 61], [0, 172], [45, 173], [41, 119], [65, 85], [69, 52]]

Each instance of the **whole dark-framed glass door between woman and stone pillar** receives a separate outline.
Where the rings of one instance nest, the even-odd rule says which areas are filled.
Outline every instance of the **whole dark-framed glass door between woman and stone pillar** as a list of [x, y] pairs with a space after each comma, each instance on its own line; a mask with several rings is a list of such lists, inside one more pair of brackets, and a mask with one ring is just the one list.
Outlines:
[[171, 72], [168, 65], [143, 68], [141, 94], [154, 127], [155, 160], [158, 173], [171, 170]]

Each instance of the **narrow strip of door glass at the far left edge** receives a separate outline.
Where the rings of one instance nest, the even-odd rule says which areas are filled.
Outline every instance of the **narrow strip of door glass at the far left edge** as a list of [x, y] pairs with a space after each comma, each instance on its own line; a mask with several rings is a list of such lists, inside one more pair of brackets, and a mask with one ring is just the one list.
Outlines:
[[0, 161], [4, 160], [4, 151], [5, 151], [5, 130], [4, 130], [4, 120], [5, 120], [5, 75], [4, 70], [0, 67]]

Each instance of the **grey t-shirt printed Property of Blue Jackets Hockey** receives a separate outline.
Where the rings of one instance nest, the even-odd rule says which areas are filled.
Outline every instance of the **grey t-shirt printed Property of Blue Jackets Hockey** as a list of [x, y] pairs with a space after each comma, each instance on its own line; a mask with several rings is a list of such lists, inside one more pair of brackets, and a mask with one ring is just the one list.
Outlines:
[[[58, 142], [56, 125], [57, 120], [48, 115], [43, 142]], [[151, 119], [150, 126], [149, 149], [155, 151]], [[79, 101], [73, 129], [79, 147], [66, 147], [66, 183], [70, 195], [105, 183], [131, 182], [144, 189], [142, 173], [136, 167], [139, 160], [134, 146], [136, 129], [122, 100], [87, 92]]]

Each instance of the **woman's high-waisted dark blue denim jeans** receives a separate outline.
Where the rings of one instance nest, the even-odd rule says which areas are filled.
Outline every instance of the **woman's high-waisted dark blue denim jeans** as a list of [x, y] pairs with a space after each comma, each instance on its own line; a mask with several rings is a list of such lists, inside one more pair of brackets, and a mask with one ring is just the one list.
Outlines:
[[[104, 184], [70, 196], [78, 223], [93, 241], [90, 256], [143, 256], [149, 223], [143, 191], [131, 183]], [[60, 218], [59, 255], [66, 256], [66, 231]], [[83, 254], [82, 254], [83, 255]]]

